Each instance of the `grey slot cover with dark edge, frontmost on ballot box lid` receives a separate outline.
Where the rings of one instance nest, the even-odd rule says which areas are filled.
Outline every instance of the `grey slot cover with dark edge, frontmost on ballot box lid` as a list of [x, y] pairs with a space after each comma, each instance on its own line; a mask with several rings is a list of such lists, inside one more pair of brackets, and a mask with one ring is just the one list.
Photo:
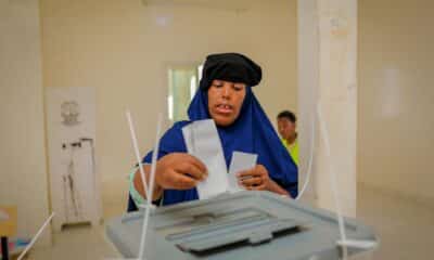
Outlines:
[[216, 253], [242, 246], [258, 246], [271, 242], [282, 235], [293, 235], [304, 227], [291, 219], [268, 219], [253, 221], [233, 226], [220, 226], [220, 230], [205, 229], [203, 232], [191, 233], [190, 236], [178, 237], [178, 249], [196, 255]]

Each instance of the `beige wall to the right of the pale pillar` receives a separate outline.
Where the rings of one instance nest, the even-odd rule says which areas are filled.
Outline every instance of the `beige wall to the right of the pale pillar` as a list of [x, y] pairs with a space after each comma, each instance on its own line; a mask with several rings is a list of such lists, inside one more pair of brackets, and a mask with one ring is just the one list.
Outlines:
[[434, 202], [432, 10], [359, 1], [358, 180]]

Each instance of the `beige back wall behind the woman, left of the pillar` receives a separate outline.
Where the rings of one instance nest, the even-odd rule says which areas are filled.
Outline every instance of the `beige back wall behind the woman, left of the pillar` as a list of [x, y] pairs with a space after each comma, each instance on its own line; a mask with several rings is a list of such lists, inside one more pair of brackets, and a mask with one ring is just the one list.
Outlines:
[[156, 113], [166, 110], [169, 63], [243, 52], [264, 68], [255, 91], [270, 118], [296, 107], [295, 1], [251, 6], [233, 12], [144, 6], [140, 0], [41, 1], [43, 86], [97, 88], [97, 157], [105, 202], [126, 199], [123, 181], [133, 164], [125, 108], [133, 113], [144, 153]]

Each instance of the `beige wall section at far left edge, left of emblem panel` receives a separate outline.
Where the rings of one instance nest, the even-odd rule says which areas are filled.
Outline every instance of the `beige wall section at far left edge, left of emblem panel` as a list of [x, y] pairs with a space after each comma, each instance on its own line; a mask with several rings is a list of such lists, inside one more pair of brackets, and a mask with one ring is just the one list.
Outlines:
[[38, 0], [0, 1], [0, 205], [18, 207], [20, 236], [49, 211], [42, 90]]

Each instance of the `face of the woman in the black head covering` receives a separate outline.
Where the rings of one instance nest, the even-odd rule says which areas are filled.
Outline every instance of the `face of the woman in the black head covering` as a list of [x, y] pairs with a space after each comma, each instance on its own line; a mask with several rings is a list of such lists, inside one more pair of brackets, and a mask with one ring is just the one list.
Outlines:
[[240, 115], [246, 92], [245, 83], [213, 80], [208, 89], [208, 110], [217, 126], [232, 125]]

